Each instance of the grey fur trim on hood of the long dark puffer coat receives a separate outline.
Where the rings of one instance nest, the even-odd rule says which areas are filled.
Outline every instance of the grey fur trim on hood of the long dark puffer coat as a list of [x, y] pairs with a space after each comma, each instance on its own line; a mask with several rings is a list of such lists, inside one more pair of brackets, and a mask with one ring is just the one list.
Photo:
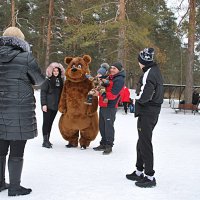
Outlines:
[[25, 40], [17, 37], [2, 36], [0, 37], [0, 46], [12, 46], [22, 51], [30, 52], [30, 45]]

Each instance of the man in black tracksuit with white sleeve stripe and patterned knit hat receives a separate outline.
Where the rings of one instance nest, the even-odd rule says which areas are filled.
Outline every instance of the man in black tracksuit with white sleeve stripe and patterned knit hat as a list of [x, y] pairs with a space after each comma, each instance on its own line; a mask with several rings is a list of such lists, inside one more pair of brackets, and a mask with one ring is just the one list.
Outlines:
[[[156, 186], [153, 169], [152, 133], [157, 124], [163, 103], [163, 79], [157, 64], [153, 61], [154, 49], [145, 48], [138, 56], [143, 70], [136, 89], [135, 117], [138, 117], [138, 142], [136, 171], [127, 174], [129, 180], [137, 181], [139, 187]], [[145, 176], [143, 174], [145, 173]]]

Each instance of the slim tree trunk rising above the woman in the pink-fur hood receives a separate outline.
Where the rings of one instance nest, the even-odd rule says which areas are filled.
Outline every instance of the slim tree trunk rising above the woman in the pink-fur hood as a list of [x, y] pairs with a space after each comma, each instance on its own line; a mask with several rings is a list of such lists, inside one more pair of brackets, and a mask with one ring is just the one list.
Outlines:
[[49, 65], [49, 54], [50, 54], [50, 45], [51, 45], [51, 21], [54, 11], [54, 0], [49, 0], [49, 17], [48, 17], [48, 31], [47, 31], [47, 47], [46, 47], [46, 56], [45, 56], [45, 67]]

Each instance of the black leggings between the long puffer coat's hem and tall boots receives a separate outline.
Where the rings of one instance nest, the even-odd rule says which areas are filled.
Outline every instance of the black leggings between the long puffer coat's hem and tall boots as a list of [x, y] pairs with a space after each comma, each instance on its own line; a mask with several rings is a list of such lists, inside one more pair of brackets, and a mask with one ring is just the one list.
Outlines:
[[10, 147], [10, 157], [23, 157], [27, 140], [0, 140], [0, 156], [7, 156]]

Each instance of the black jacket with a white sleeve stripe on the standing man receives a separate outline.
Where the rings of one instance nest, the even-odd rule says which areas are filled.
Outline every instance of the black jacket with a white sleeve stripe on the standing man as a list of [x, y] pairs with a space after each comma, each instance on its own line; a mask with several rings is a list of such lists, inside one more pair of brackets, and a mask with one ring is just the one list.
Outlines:
[[163, 79], [156, 63], [143, 68], [135, 103], [135, 117], [143, 114], [159, 114], [164, 98]]

